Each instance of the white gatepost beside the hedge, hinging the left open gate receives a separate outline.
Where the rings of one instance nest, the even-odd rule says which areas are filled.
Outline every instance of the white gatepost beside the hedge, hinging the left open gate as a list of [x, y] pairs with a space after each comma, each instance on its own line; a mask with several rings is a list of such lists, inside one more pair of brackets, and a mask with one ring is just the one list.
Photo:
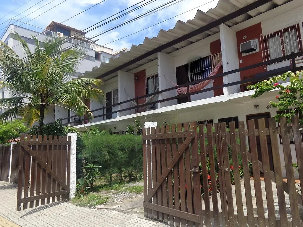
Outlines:
[[76, 160], [77, 160], [77, 133], [67, 133], [68, 137], [71, 137], [71, 163], [70, 163], [70, 180], [69, 187], [70, 193], [69, 198], [72, 199], [76, 196]]

